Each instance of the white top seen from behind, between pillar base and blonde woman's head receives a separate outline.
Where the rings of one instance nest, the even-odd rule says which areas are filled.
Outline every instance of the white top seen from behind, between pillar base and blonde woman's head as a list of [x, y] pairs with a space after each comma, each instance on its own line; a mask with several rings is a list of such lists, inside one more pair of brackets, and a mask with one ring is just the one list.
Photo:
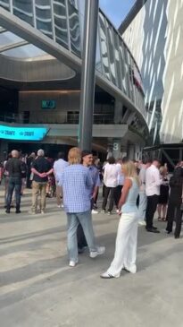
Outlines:
[[104, 185], [107, 187], [116, 187], [118, 185], [119, 168], [116, 164], [107, 163], [104, 167]]

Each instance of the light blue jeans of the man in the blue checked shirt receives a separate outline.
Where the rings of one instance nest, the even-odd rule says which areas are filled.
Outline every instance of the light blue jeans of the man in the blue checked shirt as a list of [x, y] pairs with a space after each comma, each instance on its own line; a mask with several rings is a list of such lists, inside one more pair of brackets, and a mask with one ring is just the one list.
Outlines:
[[69, 258], [71, 261], [78, 261], [78, 242], [77, 242], [77, 228], [81, 224], [85, 237], [87, 239], [87, 245], [89, 251], [97, 251], [95, 244], [94, 229], [92, 225], [91, 211], [68, 213], [67, 212], [67, 246]]

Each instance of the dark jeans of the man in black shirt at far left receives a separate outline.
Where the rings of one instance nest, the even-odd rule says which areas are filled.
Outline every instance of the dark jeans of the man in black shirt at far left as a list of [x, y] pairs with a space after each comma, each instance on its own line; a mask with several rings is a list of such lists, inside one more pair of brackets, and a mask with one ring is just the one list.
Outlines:
[[20, 210], [21, 206], [21, 177], [9, 177], [8, 194], [7, 194], [7, 209], [10, 210], [12, 202], [12, 193], [15, 190], [16, 210]]

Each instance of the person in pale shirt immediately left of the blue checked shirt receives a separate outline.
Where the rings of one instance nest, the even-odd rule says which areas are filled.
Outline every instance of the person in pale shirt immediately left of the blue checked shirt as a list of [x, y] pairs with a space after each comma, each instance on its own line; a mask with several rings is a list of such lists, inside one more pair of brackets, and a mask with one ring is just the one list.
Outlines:
[[67, 161], [65, 161], [64, 154], [62, 152], [58, 153], [57, 160], [54, 161], [54, 177], [55, 177], [55, 182], [56, 182], [56, 202], [57, 202], [57, 207], [61, 208], [63, 205], [61, 204], [61, 198], [62, 198], [62, 187], [58, 185], [59, 181], [59, 176], [62, 175], [62, 172], [64, 168], [66, 168], [69, 164]]

